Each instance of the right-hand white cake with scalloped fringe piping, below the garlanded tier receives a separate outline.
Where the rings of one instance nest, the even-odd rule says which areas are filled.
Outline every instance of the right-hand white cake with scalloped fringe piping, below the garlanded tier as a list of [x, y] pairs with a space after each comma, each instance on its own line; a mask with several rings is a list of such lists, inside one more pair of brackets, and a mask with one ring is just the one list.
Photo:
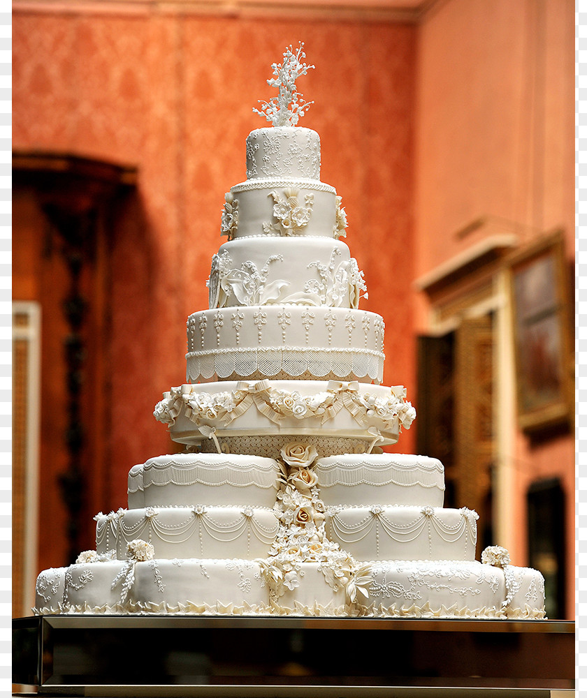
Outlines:
[[442, 507], [444, 468], [428, 456], [342, 454], [314, 466], [326, 506], [378, 504]]

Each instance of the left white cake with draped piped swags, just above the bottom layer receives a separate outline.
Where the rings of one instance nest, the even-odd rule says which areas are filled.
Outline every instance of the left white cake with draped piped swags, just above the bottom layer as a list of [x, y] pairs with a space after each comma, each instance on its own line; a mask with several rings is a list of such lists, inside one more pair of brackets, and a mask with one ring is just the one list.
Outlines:
[[126, 560], [133, 540], [152, 544], [156, 558], [253, 559], [266, 555], [277, 536], [277, 516], [261, 507], [147, 507], [96, 516], [96, 552]]

